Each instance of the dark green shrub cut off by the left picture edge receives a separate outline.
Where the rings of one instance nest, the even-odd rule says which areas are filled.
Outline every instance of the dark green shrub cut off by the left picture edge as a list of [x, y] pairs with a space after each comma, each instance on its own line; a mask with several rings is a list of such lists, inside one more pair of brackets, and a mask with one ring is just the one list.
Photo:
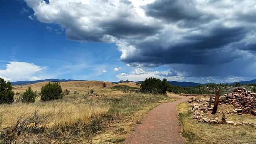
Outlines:
[[12, 103], [14, 92], [12, 91], [11, 82], [0, 78], [0, 104], [1, 103]]

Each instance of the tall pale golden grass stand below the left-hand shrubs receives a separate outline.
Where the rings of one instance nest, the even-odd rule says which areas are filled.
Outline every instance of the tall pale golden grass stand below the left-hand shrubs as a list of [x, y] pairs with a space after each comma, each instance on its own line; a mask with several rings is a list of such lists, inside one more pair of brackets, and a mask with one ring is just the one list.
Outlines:
[[78, 121], [87, 123], [91, 116], [107, 113], [109, 109], [105, 103], [98, 103], [93, 100], [88, 103], [82, 98], [71, 100], [66, 96], [63, 100], [48, 102], [41, 102], [38, 99], [35, 103], [14, 102], [11, 105], [0, 105], [2, 127], [13, 126], [19, 116], [23, 118], [33, 116], [35, 109], [39, 109], [41, 115], [49, 113], [48, 120], [44, 124], [48, 128], [72, 126]]

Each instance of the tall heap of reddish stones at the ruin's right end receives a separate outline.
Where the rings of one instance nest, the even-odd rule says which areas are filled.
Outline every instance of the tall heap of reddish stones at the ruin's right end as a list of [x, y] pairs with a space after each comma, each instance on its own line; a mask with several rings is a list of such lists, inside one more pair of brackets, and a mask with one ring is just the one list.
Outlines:
[[256, 115], [256, 93], [246, 91], [244, 88], [233, 89], [230, 94], [224, 95], [226, 100], [222, 104], [232, 104], [236, 108], [230, 113], [251, 113]]

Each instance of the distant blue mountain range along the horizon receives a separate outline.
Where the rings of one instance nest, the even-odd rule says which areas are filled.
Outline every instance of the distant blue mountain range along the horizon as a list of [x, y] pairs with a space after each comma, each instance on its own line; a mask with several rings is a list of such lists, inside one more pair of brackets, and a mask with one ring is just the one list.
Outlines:
[[[86, 80], [75, 80], [75, 79], [42, 79], [42, 80], [36, 80], [36, 81], [15, 81], [15, 82], [11, 82], [12, 85], [31, 85], [34, 83], [39, 83], [39, 82], [43, 82], [43, 81], [51, 81], [51, 82], [66, 82], [66, 81], [86, 81]], [[141, 83], [142, 81], [132, 81], [135, 83]], [[193, 82], [186, 82], [186, 81], [167, 81], [168, 83], [170, 83], [171, 85], [178, 85], [178, 86], [182, 86], [182, 87], [195, 87], [197, 85], [204, 85], [202, 83], [193, 83]], [[240, 84], [250, 84], [250, 83], [256, 83], [256, 79], [253, 79], [251, 81], [238, 81]], [[120, 82], [113, 82], [113, 83], [120, 83]], [[229, 83], [229, 84], [236, 84], [235, 83]]]

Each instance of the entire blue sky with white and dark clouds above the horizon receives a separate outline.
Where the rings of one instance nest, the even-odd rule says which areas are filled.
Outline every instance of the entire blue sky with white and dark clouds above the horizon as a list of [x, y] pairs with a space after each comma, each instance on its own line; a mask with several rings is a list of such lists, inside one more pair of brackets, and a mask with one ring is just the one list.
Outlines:
[[0, 78], [256, 79], [255, 0], [0, 0]]

